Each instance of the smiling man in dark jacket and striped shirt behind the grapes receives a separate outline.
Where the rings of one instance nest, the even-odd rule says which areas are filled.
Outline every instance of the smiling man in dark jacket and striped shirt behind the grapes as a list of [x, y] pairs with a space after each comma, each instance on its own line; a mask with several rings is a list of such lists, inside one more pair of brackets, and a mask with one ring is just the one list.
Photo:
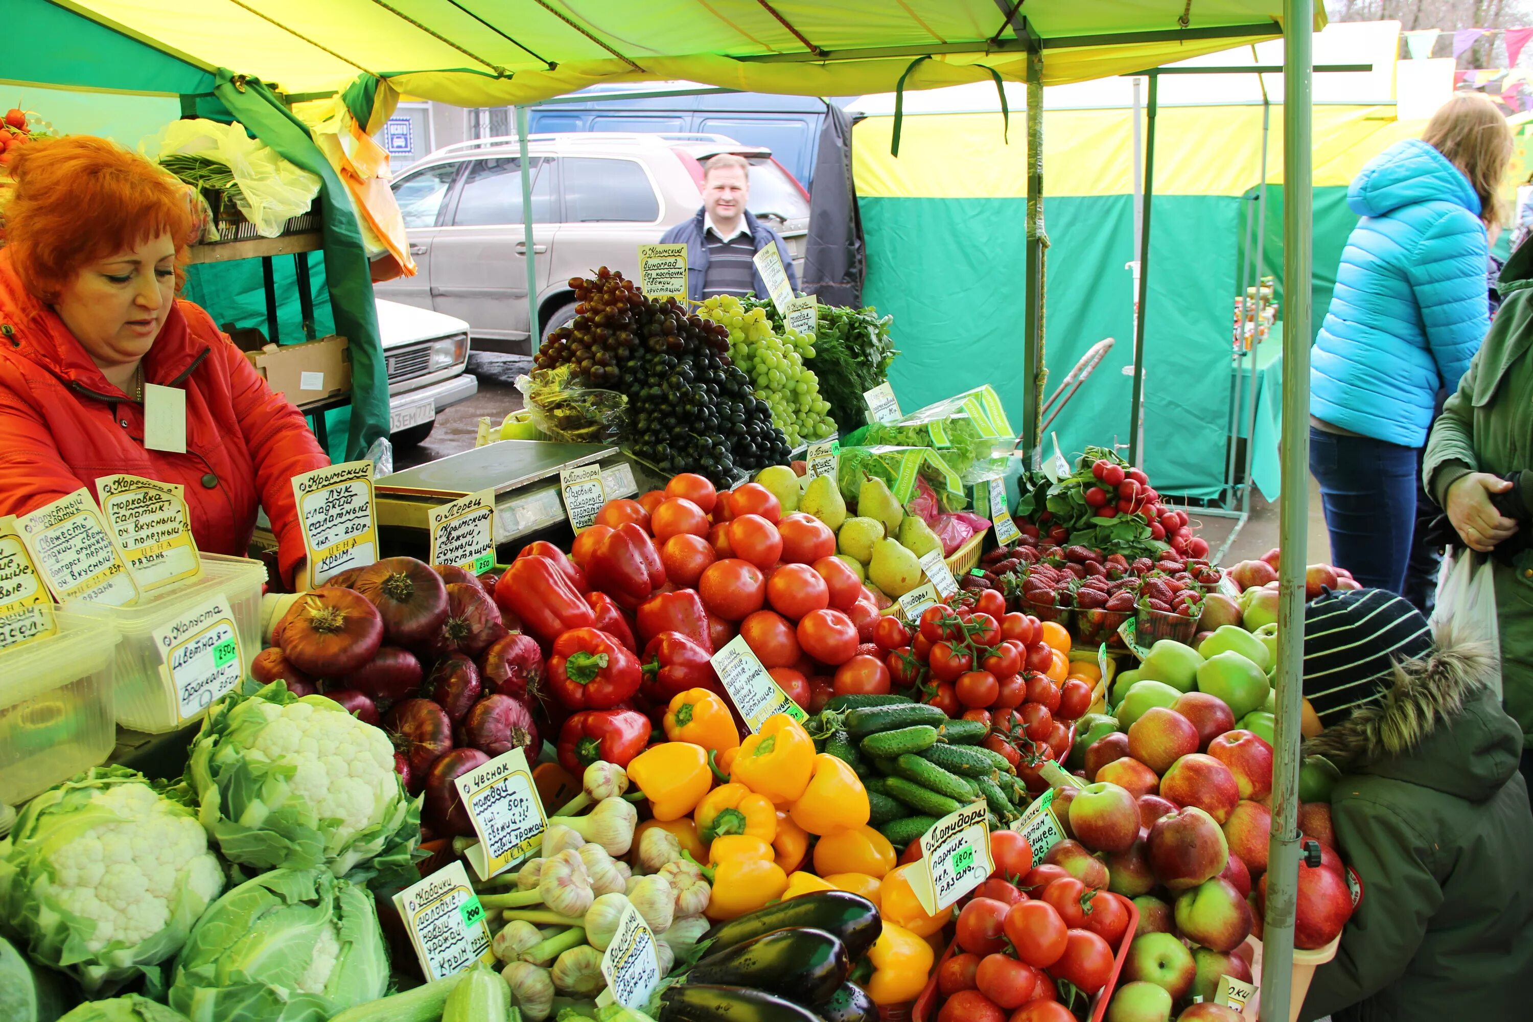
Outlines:
[[702, 167], [702, 208], [661, 237], [662, 245], [687, 245], [687, 297], [693, 302], [719, 294], [770, 297], [756, 253], [771, 245], [777, 247], [788, 287], [799, 291], [788, 244], [745, 208], [750, 198], [750, 162], [721, 153]]

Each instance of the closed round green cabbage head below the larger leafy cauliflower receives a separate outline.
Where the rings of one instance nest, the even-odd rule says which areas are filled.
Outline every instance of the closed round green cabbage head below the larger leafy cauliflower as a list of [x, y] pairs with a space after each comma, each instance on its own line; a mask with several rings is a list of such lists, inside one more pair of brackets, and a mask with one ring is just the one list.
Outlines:
[[176, 959], [170, 1007], [192, 1022], [323, 1022], [388, 990], [366, 887], [276, 869], [231, 889]]

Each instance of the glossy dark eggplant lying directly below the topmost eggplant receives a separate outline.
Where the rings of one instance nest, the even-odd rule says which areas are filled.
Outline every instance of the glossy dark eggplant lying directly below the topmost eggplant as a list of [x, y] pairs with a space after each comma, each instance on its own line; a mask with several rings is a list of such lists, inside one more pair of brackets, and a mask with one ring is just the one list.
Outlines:
[[851, 970], [839, 939], [825, 930], [789, 929], [708, 955], [687, 982], [751, 987], [812, 1008], [829, 1001]]

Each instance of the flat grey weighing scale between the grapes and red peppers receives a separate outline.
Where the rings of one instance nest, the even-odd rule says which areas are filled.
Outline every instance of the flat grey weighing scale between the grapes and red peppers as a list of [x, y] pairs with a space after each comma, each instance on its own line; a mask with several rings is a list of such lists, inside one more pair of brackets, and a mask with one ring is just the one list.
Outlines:
[[[507, 564], [527, 542], [573, 538], [560, 496], [560, 470], [601, 464], [607, 498], [656, 489], [652, 473], [613, 444], [500, 440], [374, 481], [379, 542], [386, 556], [425, 558], [431, 547], [428, 512], [480, 490], [495, 490], [497, 559]], [[509, 544], [509, 549], [506, 549]]]

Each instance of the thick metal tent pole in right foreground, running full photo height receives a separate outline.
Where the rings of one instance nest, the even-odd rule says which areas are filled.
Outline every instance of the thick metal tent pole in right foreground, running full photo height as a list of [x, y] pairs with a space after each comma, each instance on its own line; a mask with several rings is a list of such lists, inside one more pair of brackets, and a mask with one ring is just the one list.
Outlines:
[[1283, 496], [1277, 611], [1272, 840], [1262, 948], [1262, 1022], [1286, 1022], [1298, 895], [1298, 719], [1305, 674], [1309, 504], [1311, 72], [1314, 0], [1283, 0]]

